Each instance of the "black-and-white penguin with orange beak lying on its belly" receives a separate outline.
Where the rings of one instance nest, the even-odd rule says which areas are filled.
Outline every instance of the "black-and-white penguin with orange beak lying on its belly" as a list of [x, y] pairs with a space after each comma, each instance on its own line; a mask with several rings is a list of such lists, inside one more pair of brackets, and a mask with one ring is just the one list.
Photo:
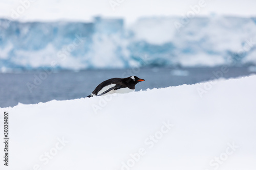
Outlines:
[[113, 78], [100, 83], [93, 92], [87, 96], [91, 98], [93, 96], [99, 96], [103, 94], [113, 94], [113, 93], [129, 93], [135, 91], [135, 85], [139, 82], [145, 81], [144, 79], [139, 79], [136, 76], [130, 76], [127, 78]]

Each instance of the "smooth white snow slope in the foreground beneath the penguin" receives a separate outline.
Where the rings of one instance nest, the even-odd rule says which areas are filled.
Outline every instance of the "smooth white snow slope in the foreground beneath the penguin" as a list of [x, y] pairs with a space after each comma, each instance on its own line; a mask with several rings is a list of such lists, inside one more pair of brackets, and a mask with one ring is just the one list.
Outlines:
[[2, 108], [0, 119], [9, 112], [10, 164], [0, 166], [255, 169], [255, 85], [250, 76]]

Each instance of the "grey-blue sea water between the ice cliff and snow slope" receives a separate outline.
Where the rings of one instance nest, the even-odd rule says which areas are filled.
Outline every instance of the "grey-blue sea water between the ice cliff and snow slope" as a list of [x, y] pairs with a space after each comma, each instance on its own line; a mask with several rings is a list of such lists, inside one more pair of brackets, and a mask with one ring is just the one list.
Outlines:
[[[223, 71], [224, 70], [224, 71]], [[104, 80], [137, 76], [145, 82], [136, 91], [182, 84], [195, 84], [210, 79], [236, 78], [253, 72], [247, 67], [215, 68], [137, 68], [113, 70], [84, 70], [79, 72], [38, 71], [0, 74], [0, 107], [18, 103], [35, 104], [51, 100], [84, 98]]]

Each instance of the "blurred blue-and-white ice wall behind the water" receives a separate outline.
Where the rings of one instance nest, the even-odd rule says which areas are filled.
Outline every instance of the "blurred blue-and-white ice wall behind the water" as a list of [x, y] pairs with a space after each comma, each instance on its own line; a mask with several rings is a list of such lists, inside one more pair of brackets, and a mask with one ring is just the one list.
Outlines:
[[0, 19], [0, 70], [256, 64], [255, 18], [95, 17], [92, 22]]

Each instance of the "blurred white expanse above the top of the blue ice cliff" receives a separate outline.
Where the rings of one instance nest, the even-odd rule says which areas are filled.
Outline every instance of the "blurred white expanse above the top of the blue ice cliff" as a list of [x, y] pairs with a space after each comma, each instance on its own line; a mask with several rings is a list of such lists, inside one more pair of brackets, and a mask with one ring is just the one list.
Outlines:
[[[19, 20], [90, 20], [102, 15], [124, 17], [131, 22], [141, 16], [171, 16], [186, 14], [198, 0], [111, 0], [121, 2], [112, 9], [110, 0], [0, 0], [0, 17], [12, 17], [21, 5], [28, 2], [27, 9], [16, 17]], [[203, 1], [203, 0], [202, 0]], [[198, 16], [217, 15], [256, 16], [255, 0], [205, 0]], [[22, 11], [22, 7], [19, 8]], [[16, 16], [16, 15], [15, 15]]]

